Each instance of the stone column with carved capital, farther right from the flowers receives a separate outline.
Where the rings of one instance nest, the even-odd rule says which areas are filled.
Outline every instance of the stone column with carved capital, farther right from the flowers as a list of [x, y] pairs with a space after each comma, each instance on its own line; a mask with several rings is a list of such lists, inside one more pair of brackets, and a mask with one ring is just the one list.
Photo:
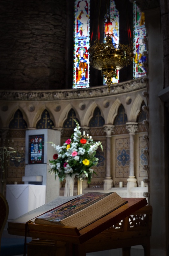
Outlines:
[[130, 189], [133, 187], [137, 187], [136, 178], [134, 175], [134, 135], [138, 129], [137, 123], [129, 122], [126, 123], [126, 128], [130, 135], [130, 170], [129, 170], [129, 178], [127, 179], [127, 189], [130, 192]]

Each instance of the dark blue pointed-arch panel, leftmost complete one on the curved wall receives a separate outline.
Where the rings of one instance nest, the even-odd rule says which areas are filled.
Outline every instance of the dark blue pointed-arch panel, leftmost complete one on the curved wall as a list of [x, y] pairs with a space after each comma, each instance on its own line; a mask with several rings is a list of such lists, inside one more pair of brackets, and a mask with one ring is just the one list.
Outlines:
[[10, 129], [26, 129], [27, 128], [27, 124], [23, 119], [23, 115], [20, 109], [18, 109], [15, 112], [14, 118], [11, 120], [9, 124], [9, 128]]

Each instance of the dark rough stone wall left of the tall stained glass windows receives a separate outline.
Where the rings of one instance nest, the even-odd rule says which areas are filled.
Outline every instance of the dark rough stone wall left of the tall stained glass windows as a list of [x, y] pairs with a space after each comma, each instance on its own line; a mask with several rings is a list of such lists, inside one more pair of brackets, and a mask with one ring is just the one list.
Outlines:
[[1, 89], [60, 89], [65, 84], [65, 0], [2, 0]]

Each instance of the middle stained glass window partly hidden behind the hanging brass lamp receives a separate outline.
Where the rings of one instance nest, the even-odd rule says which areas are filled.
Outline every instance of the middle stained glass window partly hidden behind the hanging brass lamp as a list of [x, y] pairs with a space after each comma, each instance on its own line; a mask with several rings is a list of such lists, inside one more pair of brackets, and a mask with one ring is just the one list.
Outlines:
[[[112, 34], [113, 44], [119, 44], [119, 11], [116, 9], [114, 0], [110, 0], [110, 21], [107, 21], [105, 15], [104, 21], [104, 43], [106, 42], [106, 35]], [[104, 78], [104, 84], [106, 84], [107, 78]], [[113, 84], [119, 83], [119, 70], [117, 70], [116, 77], [111, 79]]]

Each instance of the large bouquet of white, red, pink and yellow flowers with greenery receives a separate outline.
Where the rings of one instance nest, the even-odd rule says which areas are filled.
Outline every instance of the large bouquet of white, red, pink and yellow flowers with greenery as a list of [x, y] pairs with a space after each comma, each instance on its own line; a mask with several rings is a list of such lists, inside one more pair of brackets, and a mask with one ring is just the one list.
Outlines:
[[103, 147], [100, 141], [94, 142], [92, 136], [85, 135], [85, 132], [82, 135], [79, 124], [77, 122], [76, 124], [74, 133], [63, 143], [63, 146], [50, 142], [57, 154], [54, 154], [53, 160], [49, 160], [51, 168], [49, 172], [55, 172], [55, 178], [58, 175], [60, 181], [69, 175], [77, 178], [87, 177], [90, 183], [92, 173], [95, 173], [91, 167], [97, 165], [99, 160], [96, 157], [96, 150], [99, 146], [103, 150]]

